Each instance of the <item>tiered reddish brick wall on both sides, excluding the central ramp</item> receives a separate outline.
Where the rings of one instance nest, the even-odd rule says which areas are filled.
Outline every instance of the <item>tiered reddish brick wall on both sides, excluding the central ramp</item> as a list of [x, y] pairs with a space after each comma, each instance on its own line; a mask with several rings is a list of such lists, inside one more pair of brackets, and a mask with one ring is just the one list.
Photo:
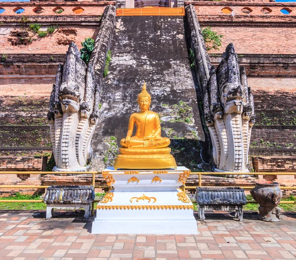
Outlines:
[[[51, 148], [46, 146], [20, 147], [20, 142], [17, 141], [28, 140], [26, 134], [22, 133], [26, 129], [15, 126], [32, 126], [34, 129], [30, 131], [38, 131], [38, 134], [33, 133], [34, 146], [42, 145], [37, 141], [39, 138], [49, 140], [49, 132], [43, 128], [47, 125], [45, 115], [48, 110], [49, 95], [57, 65], [63, 63], [68, 49], [67, 45], [57, 44], [57, 36], [63, 34], [64, 38], [70, 38], [73, 36], [71, 33], [74, 29], [77, 32], [74, 39], [77, 44], [84, 37], [93, 36], [100, 16], [109, 3], [112, 2], [1, 3], [0, 7], [4, 8], [5, 12], [0, 14], [0, 125], [2, 131], [13, 133], [13, 137], [8, 137], [6, 144], [2, 141], [1, 155], [6, 156], [8, 152], [8, 156], [12, 154], [26, 156], [50, 151]], [[291, 137], [289, 131], [295, 133], [296, 120], [296, 56], [294, 55], [296, 53], [294, 15], [296, 3], [239, 0], [194, 1], [193, 4], [197, 9], [201, 26], [203, 28], [211, 26], [213, 30], [223, 35], [222, 48], [213, 51], [210, 55], [211, 63], [217, 65], [225, 46], [233, 42], [240, 64], [246, 67], [257, 114], [257, 122], [252, 134], [254, 140], [251, 142], [259, 142], [259, 145], [250, 149], [250, 155], [254, 157], [286, 156], [287, 158], [295, 156], [295, 149], [286, 147], [284, 142], [290, 136], [291, 140], [288, 144], [295, 144], [293, 135]], [[14, 13], [13, 9], [17, 6], [23, 7], [25, 12], [19, 15]], [[57, 6], [63, 7], [64, 12], [54, 13], [52, 9]], [[84, 11], [79, 14], [74, 13], [73, 9], [76, 6], [81, 6]], [[35, 7], [44, 7], [44, 12], [33, 13]], [[230, 7], [233, 12], [223, 13], [224, 7]], [[242, 9], [245, 7], [251, 8], [252, 12], [243, 12]], [[271, 13], [261, 12], [265, 7], [270, 8]], [[292, 12], [288, 15], [282, 14], [280, 10], [285, 7], [290, 8]], [[23, 16], [27, 17], [29, 22], [20, 23]], [[11, 37], [9, 36], [11, 30], [14, 28], [19, 30], [21, 26], [27, 28], [28, 24], [36, 22], [42, 25], [42, 30], [45, 30], [48, 25], [58, 24], [59, 30], [63, 29], [65, 33], [68, 30], [69, 35], [56, 30], [52, 36], [37, 38], [32, 44], [28, 42], [30, 44], [11, 45], [7, 39]], [[53, 44], [54, 48], [49, 47], [48, 43]], [[30, 50], [32, 48], [33, 50]], [[158, 51], [170, 50], [158, 49]], [[1, 59], [2, 54], [5, 54], [4, 60]], [[155, 59], [157, 57], [156, 55]], [[281, 126], [284, 127], [284, 136], [278, 135], [281, 133], [278, 127]], [[289, 131], [285, 128], [286, 126], [291, 127]], [[6, 127], [11, 128], [7, 130]], [[258, 131], [257, 134], [255, 131]], [[2, 134], [5, 133], [0, 132], [0, 135]], [[261, 134], [263, 138], [260, 137]], [[6, 133], [5, 137], [7, 136]], [[9, 138], [19, 140], [13, 143], [14, 141]], [[277, 138], [280, 139], [277, 140]], [[261, 139], [263, 143], [276, 143], [276, 147], [260, 144]], [[182, 140], [179, 142], [182, 143]], [[14, 144], [18, 146], [12, 146]]]

